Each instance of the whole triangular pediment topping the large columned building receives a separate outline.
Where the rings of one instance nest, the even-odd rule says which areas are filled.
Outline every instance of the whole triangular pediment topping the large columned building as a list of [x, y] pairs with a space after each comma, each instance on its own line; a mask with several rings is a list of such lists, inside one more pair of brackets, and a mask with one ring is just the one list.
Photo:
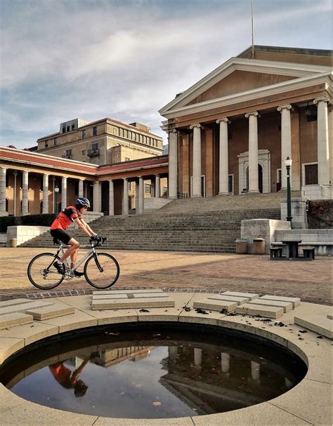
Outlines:
[[203, 79], [176, 95], [159, 113], [166, 117], [175, 110], [249, 91], [260, 91], [290, 81], [326, 73], [330, 67], [293, 62], [231, 58]]

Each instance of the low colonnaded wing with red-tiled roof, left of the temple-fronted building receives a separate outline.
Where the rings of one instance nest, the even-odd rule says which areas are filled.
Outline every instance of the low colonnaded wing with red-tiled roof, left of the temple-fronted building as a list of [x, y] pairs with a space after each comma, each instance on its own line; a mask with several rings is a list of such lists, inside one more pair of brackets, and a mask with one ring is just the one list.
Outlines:
[[162, 203], [167, 175], [167, 155], [97, 166], [0, 147], [0, 216], [55, 213], [81, 196], [94, 212], [144, 213], [147, 199]]

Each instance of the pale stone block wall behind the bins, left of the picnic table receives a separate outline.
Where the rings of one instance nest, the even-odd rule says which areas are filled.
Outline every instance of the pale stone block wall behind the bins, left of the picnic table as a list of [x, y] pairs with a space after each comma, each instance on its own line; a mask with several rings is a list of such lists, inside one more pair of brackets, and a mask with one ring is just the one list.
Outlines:
[[247, 239], [247, 253], [253, 253], [254, 238], [263, 238], [265, 240], [265, 253], [268, 254], [271, 243], [275, 241], [274, 234], [277, 229], [291, 229], [290, 222], [273, 219], [242, 220], [240, 236]]

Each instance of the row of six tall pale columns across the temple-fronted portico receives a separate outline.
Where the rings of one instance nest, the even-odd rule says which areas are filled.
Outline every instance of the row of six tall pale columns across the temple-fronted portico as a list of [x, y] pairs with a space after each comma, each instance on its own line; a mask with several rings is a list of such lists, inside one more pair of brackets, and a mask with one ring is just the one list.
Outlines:
[[[327, 104], [329, 98], [322, 97], [313, 100], [318, 107], [318, 185], [329, 185], [329, 128]], [[292, 158], [292, 105], [280, 105], [281, 113], [281, 168], [285, 169], [284, 161]], [[258, 176], [258, 111], [249, 111], [245, 114], [249, 119], [249, 193], [259, 192]], [[219, 171], [218, 171], [218, 195], [228, 195], [228, 117], [216, 120], [219, 124]], [[192, 124], [192, 197], [202, 197], [201, 193], [201, 129], [200, 123]], [[291, 173], [292, 175], [292, 173]], [[177, 198], [177, 132], [169, 131], [169, 198]], [[291, 182], [292, 184], [292, 182]], [[282, 173], [281, 189], [287, 188], [287, 177]]]

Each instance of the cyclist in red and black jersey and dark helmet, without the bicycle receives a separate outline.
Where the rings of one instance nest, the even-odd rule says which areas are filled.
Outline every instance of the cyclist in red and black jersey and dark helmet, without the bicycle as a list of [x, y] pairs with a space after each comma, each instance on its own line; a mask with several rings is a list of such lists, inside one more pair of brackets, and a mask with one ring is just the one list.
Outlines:
[[[58, 269], [60, 274], [64, 274], [65, 267], [64, 261], [70, 257], [72, 260], [70, 267], [74, 267], [75, 262], [77, 261], [77, 252], [79, 251], [79, 242], [65, 232], [66, 228], [69, 227], [72, 222], [75, 222], [79, 229], [81, 229], [84, 234], [88, 237], [93, 237], [93, 239], [98, 239], [98, 234], [93, 232], [93, 229], [82, 218], [83, 213], [85, 213], [88, 208], [90, 208], [89, 199], [86, 197], [79, 197], [75, 201], [74, 206], [67, 206], [64, 208], [58, 216], [53, 221], [50, 227], [50, 233], [53, 238], [59, 239], [64, 244], [69, 245], [63, 256], [59, 260], [55, 260], [53, 266]], [[74, 277], [82, 277], [84, 273], [74, 271]]]

